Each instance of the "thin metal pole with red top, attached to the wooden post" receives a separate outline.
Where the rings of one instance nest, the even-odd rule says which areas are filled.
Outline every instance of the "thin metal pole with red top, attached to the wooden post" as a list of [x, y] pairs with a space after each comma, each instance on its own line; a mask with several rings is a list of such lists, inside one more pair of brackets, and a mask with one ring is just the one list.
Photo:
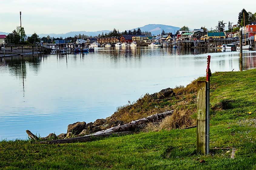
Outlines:
[[207, 69], [206, 69], [206, 128], [205, 128], [205, 149], [206, 149], [206, 155], [209, 154], [210, 149], [210, 140], [209, 140], [209, 134], [210, 134], [210, 77], [211, 77], [211, 69], [210, 69], [210, 60], [211, 56], [207, 57]]

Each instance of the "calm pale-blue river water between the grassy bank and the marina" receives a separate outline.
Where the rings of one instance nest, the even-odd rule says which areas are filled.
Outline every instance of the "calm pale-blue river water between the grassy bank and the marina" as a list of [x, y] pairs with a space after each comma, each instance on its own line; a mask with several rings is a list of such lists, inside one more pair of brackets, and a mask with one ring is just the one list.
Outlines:
[[[238, 71], [238, 52], [97, 48], [94, 53], [6, 57], [0, 62], [0, 140], [66, 133], [68, 124], [111, 116], [145, 93], [187, 85], [211, 71]], [[244, 69], [256, 66], [244, 51]]]

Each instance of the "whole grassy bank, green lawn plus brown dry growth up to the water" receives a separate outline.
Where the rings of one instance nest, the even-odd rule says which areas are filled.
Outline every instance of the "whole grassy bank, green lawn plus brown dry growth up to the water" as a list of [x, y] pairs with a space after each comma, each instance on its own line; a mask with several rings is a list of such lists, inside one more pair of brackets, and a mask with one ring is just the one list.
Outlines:
[[[215, 72], [210, 86], [210, 154], [196, 153], [197, 81], [118, 107], [106, 119], [68, 125], [71, 137], [175, 110], [161, 121], [132, 133], [113, 134], [91, 142], [42, 144], [37, 140], [0, 142], [0, 168], [28, 169], [256, 169], [256, 69]], [[87, 125], [87, 127], [86, 127]], [[85, 128], [86, 127], [86, 128]], [[80, 128], [80, 129], [79, 129]], [[78, 130], [79, 129], [79, 130]], [[82, 129], [82, 130], [81, 130]], [[78, 131], [80, 131], [78, 133]], [[70, 134], [71, 133], [71, 134]], [[67, 134], [58, 138], [68, 138]], [[231, 159], [232, 148], [236, 148]]]

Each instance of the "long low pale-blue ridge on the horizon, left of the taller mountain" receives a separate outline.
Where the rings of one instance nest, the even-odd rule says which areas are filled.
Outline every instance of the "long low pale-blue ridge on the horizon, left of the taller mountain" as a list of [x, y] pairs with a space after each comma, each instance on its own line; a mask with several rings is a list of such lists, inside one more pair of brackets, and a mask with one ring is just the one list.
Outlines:
[[[94, 31], [94, 32], [90, 32], [90, 31], [72, 31], [72, 32], [68, 32], [65, 34], [38, 34], [39, 37], [47, 37], [47, 35], [49, 35], [50, 37], [54, 37], [54, 38], [59, 38], [59, 37], [74, 37], [75, 35], [88, 35], [88, 36], [96, 36], [98, 34], [102, 34], [102, 32], [105, 33], [109, 33], [110, 30], [101, 30], [101, 31]], [[27, 36], [31, 36], [32, 34], [27, 34]]]

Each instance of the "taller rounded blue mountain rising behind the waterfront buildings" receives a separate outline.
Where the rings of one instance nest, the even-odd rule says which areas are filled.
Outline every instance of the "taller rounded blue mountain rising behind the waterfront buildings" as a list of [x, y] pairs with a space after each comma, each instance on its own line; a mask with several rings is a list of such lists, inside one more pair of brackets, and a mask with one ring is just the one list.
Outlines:
[[151, 31], [152, 35], [159, 35], [160, 34], [159, 27], [161, 27], [161, 32], [162, 32], [162, 30], [165, 30], [165, 33], [171, 32], [172, 34], [175, 34], [175, 32], [180, 29], [180, 27], [174, 27], [171, 25], [148, 24], [143, 27], [132, 28], [130, 30], [133, 31], [133, 29], [137, 30], [138, 28], [140, 28], [141, 31]]

